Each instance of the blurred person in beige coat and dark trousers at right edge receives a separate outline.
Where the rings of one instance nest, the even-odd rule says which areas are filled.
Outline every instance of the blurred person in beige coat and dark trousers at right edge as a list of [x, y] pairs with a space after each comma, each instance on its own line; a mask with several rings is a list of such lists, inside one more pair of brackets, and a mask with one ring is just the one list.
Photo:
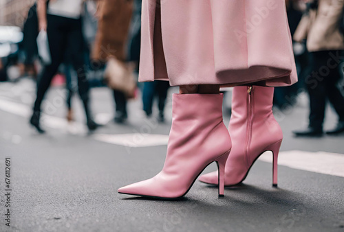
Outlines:
[[294, 131], [294, 135], [323, 135], [327, 99], [338, 115], [338, 124], [326, 133], [336, 135], [344, 132], [344, 97], [337, 86], [341, 80], [339, 68], [344, 50], [344, 36], [340, 31], [343, 8], [344, 1], [313, 1], [294, 34], [294, 40], [301, 42], [307, 39], [307, 48], [312, 56], [312, 73], [305, 78], [310, 97], [309, 125], [305, 130]]

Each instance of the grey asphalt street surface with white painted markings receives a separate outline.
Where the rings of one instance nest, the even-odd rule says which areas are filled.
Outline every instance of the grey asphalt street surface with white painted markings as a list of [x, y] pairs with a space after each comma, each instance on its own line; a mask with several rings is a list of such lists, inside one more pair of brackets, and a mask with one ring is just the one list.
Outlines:
[[[175, 89], [171, 89], [171, 92]], [[140, 99], [129, 102], [129, 120], [113, 121], [114, 101], [105, 88], [92, 89], [92, 108], [104, 124], [88, 134], [80, 100], [76, 121], [65, 121], [65, 92], [47, 95], [39, 135], [28, 125], [34, 83], [0, 83], [0, 231], [344, 231], [344, 136], [297, 139], [307, 122], [307, 100], [276, 111], [284, 140], [279, 187], [272, 188], [271, 154], [253, 165], [244, 184], [217, 189], [196, 181], [178, 201], [117, 193], [118, 187], [150, 178], [164, 163], [171, 126], [146, 119]], [[155, 111], [155, 115], [156, 115]], [[228, 124], [226, 113], [224, 120]], [[336, 122], [328, 108], [325, 128]], [[10, 227], [6, 226], [10, 158]], [[209, 166], [204, 172], [216, 170]], [[7, 194], [7, 195], [6, 195]]]

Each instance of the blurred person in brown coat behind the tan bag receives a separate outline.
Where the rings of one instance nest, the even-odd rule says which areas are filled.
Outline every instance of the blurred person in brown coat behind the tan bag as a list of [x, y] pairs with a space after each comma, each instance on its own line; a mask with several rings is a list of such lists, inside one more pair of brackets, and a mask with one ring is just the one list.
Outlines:
[[[107, 63], [109, 75], [116, 78], [116, 71], [112, 69], [112, 64], [108, 62], [113, 59], [126, 63], [127, 43], [129, 35], [129, 25], [133, 12], [132, 0], [102, 0], [98, 1], [98, 32], [92, 58], [94, 62]], [[96, 66], [96, 65], [94, 65]], [[98, 65], [102, 67], [103, 65]], [[116, 102], [115, 121], [122, 123], [127, 119], [127, 95], [119, 89], [113, 89], [114, 100]]]

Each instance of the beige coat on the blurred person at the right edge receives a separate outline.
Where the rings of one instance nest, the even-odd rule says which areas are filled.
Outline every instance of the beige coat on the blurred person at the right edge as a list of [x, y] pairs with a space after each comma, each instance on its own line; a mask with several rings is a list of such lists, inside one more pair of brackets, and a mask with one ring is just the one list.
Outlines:
[[344, 36], [339, 31], [344, 0], [319, 0], [318, 10], [310, 10], [301, 19], [294, 40], [307, 38], [308, 51], [344, 50]]

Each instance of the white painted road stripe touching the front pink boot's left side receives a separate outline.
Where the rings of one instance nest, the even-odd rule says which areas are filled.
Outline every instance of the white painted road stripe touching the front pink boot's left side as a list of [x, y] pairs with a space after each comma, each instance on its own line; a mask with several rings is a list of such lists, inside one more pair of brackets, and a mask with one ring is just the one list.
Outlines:
[[150, 146], [164, 146], [169, 141], [169, 135], [152, 134], [122, 134], [122, 135], [94, 135], [94, 139], [120, 146], [141, 148]]

